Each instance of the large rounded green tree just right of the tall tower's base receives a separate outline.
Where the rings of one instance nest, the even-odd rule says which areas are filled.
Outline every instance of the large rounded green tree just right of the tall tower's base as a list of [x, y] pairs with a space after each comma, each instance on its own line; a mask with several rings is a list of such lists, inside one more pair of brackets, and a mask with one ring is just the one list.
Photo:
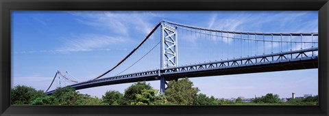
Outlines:
[[179, 81], [169, 81], [168, 87], [164, 91], [169, 102], [180, 105], [192, 105], [197, 97], [199, 89], [193, 87], [193, 82], [188, 78]]

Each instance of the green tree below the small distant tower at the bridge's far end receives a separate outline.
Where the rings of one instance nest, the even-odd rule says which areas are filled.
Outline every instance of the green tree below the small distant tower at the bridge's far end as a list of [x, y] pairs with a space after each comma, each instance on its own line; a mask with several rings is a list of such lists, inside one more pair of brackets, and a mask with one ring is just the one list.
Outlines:
[[77, 100], [80, 98], [78, 91], [72, 87], [58, 87], [53, 91], [52, 96], [57, 98], [58, 105], [76, 105]]

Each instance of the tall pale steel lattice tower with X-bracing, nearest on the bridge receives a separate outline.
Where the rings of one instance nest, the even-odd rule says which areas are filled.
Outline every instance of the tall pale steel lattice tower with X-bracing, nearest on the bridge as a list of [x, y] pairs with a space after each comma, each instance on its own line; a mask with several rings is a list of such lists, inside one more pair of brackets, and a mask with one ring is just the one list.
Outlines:
[[[161, 22], [160, 72], [178, 66], [177, 27]], [[159, 74], [160, 74], [159, 72]], [[159, 75], [160, 76], [160, 75]], [[164, 94], [165, 78], [160, 76], [160, 93]]]

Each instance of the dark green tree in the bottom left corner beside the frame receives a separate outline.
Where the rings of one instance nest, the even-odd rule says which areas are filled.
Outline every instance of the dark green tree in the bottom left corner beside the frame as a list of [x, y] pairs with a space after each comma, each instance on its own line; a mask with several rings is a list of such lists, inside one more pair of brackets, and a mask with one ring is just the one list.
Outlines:
[[37, 91], [33, 87], [25, 85], [16, 85], [10, 91], [12, 104], [29, 104], [32, 100], [38, 97], [46, 96], [42, 90]]

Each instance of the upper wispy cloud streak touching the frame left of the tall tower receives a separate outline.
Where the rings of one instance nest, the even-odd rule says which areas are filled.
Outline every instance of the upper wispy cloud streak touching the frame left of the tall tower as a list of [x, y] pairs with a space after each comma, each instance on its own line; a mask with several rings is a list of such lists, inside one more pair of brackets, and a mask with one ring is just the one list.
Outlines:
[[110, 29], [115, 33], [126, 35], [132, 31], [151, 31], [149, 16], [157, 16], [154, 12], [70, 12], [82, 24]]

